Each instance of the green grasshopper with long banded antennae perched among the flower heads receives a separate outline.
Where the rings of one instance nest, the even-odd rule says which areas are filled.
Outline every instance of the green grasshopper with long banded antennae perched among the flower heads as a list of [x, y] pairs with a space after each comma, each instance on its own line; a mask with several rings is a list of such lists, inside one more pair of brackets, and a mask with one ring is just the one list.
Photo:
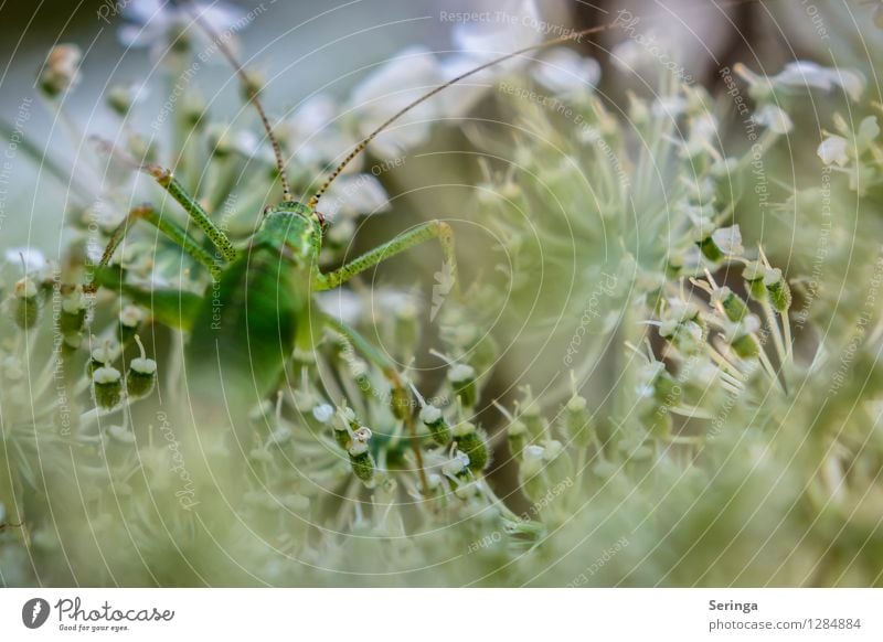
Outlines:
[[[380, 245], [342, 267], [322, 272], [319, 254], [322, 248], [325, 221], [317, 211], [320, 199], [343, 169], [365, 150], [369, 143], [390, 125], [411, 109], [464, 78], [492, 65], [542, 47], [578, 39], [611, 25], [573, 32], [566, 36], [500, 56], [479, 65], [427, 92], [402, 108], [362, 140], [334, 169], [321, 188], [306, 203], [295, 201], [289, 190], [285, 163], [279, 145], [274, 137], [269, 119], [258, 99], [258, 92], [249, 82], [242, 65], [222, 39], [195, 13], [194, 21], [215, 41], [243, 86], [248, 100], [256, 108], [267, 137], [273, 145], [284, 200], [265, 210], [257, 232], [237, 247], [212, 221], [212, 217], [174, 178], [168, 169], [156, 164], [137, 165], [163, 188], [188, 213], [192, 222], [223, 257], [219, 261], [179, 224], [160, 216], [151, 206], [131, 210], [127, 218], [111, 234], [104, 255], [95, 269], [93, 281], [85, 287], [94, 293], [105, 286], [151, 310], [160, 322], [180, 328], [189, 333], [184, 361], [188, 385], [193, 382], [199, 394], [219, 393], [227, 404], [232, 417], [265, 399], [280, 383], [285, 365], [296, 346], [309, 350], [323, 324], [347, 336], [364, 357], [377, 366], [392, 386], [393, 411], [406, 422], [422, 481], [425, 484], [423, 459], [417, 446], [412, 419], [409, 393], [395, 365], [354, 329], [340, 320], [317, 312], [312, 295], [337, 288], [355, 275], [381, 261], [427, 240], [438, 240], [445, 260], [454, 277], [457, 296], [457, 271], [454, 233], [447, 223], [429, 221], [398, 237]], [[113, 150], [111, 150], [113, 151]], [[145, 221], [170, 238], [209, 270], [213, 291], [202, 297], [177, 290], [143, 290], [125, 283], [119, 270], [113, 270], [110, 259], [127, 231], [137, 221]], [[235, 421], [234, 421], [235, 425]]]

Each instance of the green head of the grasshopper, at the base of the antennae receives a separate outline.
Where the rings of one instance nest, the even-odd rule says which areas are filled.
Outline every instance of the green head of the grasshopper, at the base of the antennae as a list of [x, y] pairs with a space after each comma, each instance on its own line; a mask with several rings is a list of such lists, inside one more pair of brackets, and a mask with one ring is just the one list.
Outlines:
[[284, 201], [264, 211], [260, 240], [278, 247], [279, 252], [300, 263], [310, 264], [322, 247], [321, 215], [312, 207], [296, 201]]

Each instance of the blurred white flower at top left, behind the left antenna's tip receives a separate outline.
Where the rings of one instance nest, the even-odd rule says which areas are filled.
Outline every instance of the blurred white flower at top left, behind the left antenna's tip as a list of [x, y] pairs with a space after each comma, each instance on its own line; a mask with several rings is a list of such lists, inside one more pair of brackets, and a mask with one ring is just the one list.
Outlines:
[[198, 26], [193, 25], [193, 15], [199, 15], [227, 46], [236, 47], [231, 38], [244, 26], [246, 13], [234, 4], [226, 2], [191, 2], [193, 11], [164, 0], [131, 0], [123, 9], [129, 21], [118, 32], [119, 41], [125, 46], [150, 47], [150, 55], [158, 60], [170, 46], [180, 43], [181, 34], [193, 26], [192, 33], [203, 45], [211, 44], [211, 39]]

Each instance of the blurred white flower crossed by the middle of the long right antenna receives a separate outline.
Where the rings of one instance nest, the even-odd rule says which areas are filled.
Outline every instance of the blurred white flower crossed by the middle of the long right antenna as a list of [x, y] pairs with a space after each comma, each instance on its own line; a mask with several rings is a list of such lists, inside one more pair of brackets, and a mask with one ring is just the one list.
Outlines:
[[[359, 117], [361, 137], [440, 82], [435, 56], [425, 47], [408, 47], [383, 64], [360, 83], [350, 97]], [[414, 107], [371, 143], [374, 153], [391, 158], [422, 145], [428, 140], [437, 115], [437, 101], [427, 100]]]

